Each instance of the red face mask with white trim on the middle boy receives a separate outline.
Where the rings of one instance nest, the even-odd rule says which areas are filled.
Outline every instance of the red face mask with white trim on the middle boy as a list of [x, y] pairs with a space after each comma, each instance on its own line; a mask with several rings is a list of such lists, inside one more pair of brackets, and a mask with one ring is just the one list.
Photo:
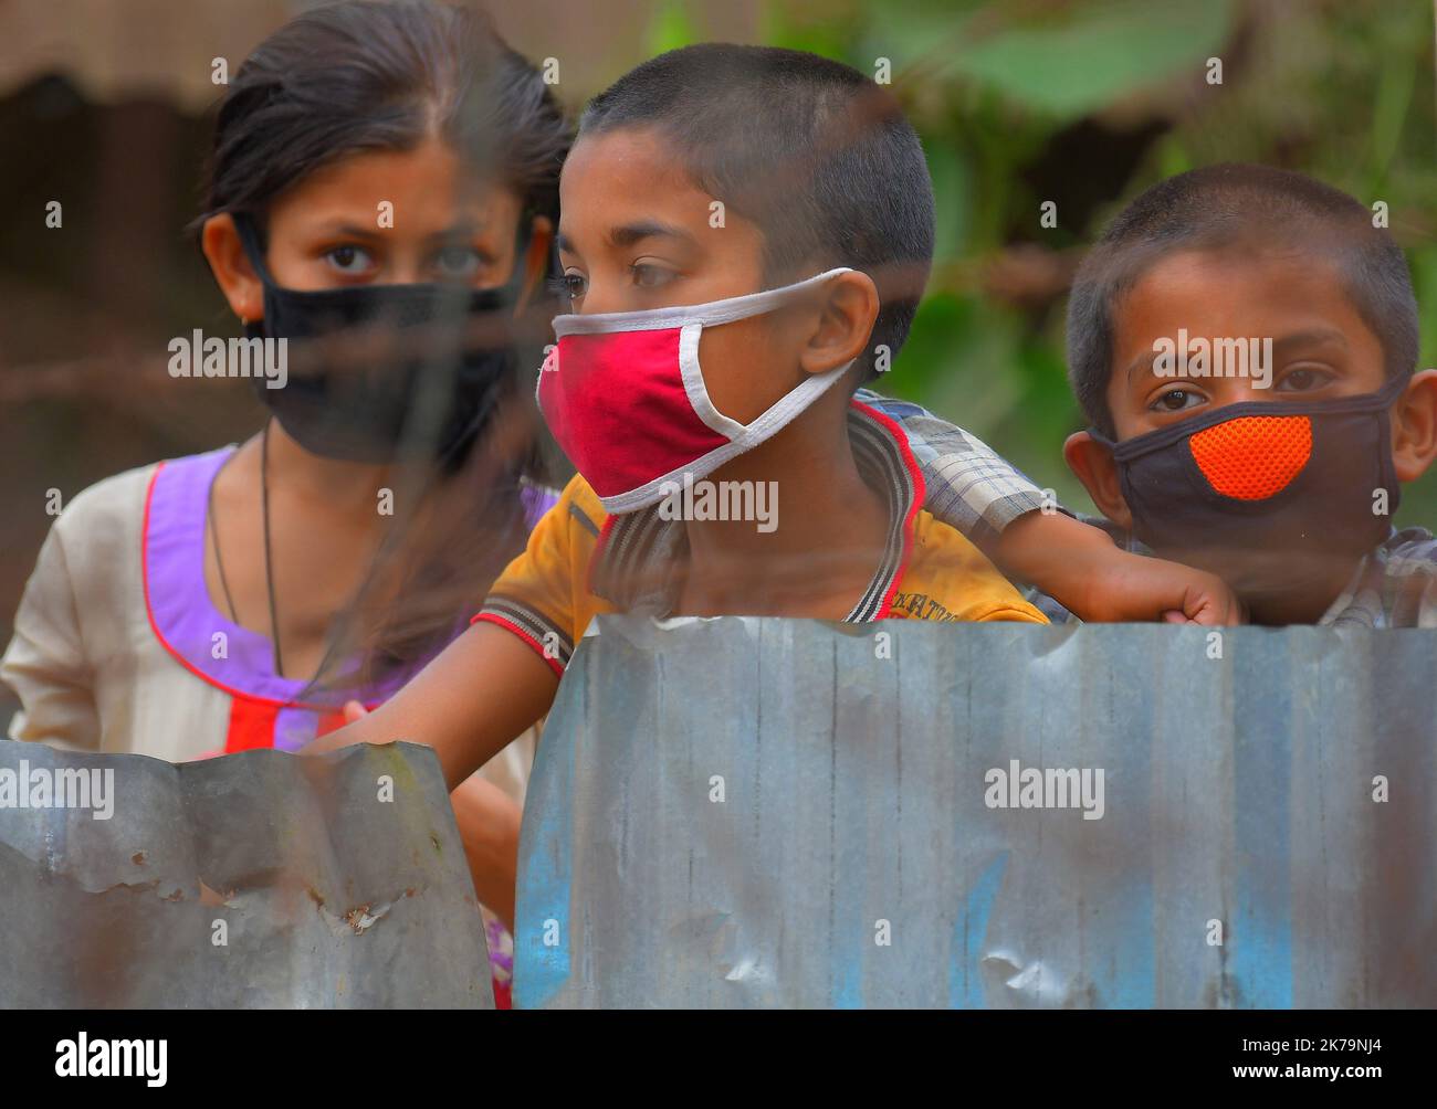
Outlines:
[[773, 312], [841, 273], [849, 270], [707, 305], [555, 317], [559, 342], [539, 372], [539, 408], [605, 511], [657, 504], [685, 474], [703, 480], [772, 438], [844, 376], [852, 362], [806, 378], [740, 424], [714, 408], [698, 365], [704, 328]]

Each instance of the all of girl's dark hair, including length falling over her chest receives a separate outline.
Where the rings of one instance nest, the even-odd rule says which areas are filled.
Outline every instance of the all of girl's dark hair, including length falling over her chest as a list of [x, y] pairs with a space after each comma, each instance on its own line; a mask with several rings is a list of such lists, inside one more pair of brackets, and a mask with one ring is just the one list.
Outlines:
[[[234, 75], [194, 227], [231, 213], [263, 231], [270, 201], [315, 170], [430, 136], [514, 190], [525, 224], [558, 221], [572, 128], [539, 70], [487, 16], [427, 0], [343, 0], [305, 11]], [[513, 385], [463, 465], [399, 468], [388, 534], [299, 700], [329, 702], [405, 678], [463, 628], [523, 549], [520, 494], [543, 473], [527, 388]]]

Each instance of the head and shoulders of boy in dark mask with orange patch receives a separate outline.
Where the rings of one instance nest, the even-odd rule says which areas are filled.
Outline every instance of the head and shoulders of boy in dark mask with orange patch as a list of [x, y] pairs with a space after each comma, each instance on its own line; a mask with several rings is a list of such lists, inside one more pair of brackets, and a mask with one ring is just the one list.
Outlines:
[[1152, 187], [1079, 270], [1068, 351], [1092, 421], [1068, 464], [1129, 549], [1220, 575], [1257, 623], [1437, 626], [1437, 542], [1391, 523], [1437, 454], [1437, 371], [1355, 200], [1257, 165]]

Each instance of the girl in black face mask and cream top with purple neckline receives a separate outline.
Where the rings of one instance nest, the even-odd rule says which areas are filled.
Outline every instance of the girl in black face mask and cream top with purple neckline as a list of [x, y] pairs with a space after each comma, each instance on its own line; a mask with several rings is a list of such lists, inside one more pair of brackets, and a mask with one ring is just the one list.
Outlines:
[[[341, 3], [250, 55], [197, 227], [246, 333], [286, 345], [286, 372], [254, 382], [272, 415], [69, 506], [6, 656], [16, 737], [172, 761], [297, 750], [463, 629], [549, 503], [527, 340], [547, 335], [569, 136], [468, 11]], [[532, 741], [454, 794], [504, 919]]]

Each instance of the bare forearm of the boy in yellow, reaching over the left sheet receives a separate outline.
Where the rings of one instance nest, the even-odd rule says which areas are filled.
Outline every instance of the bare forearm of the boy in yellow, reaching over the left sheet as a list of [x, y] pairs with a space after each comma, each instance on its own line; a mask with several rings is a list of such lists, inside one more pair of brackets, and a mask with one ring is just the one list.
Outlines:
[[547, 713], [558, 688], [558, 675], [533, 648], [493, 623], [474, 623], [394, 697], [305, 754], [352, 743], [422, 743], [438, 754], [454, 790]]

